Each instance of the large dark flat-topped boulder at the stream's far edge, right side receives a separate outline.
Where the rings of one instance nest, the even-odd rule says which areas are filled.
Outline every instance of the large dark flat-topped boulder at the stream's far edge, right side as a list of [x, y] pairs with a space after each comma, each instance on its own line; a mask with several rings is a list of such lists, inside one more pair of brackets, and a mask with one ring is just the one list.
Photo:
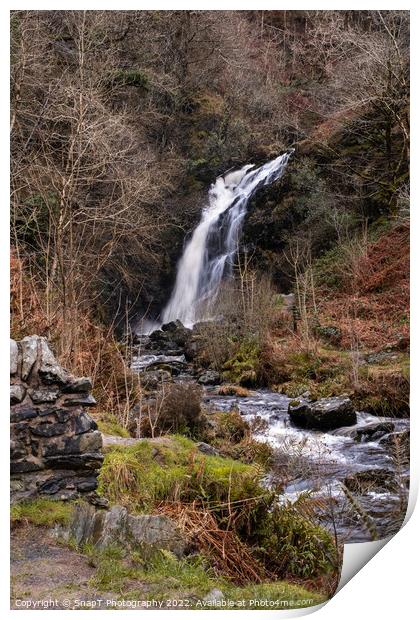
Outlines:
[[295, 426], [331, 431], [356, 424], [357, 417], [350, 398], [336, 396], [309, 402], [303, 398], [289, 403], [290, 420]]

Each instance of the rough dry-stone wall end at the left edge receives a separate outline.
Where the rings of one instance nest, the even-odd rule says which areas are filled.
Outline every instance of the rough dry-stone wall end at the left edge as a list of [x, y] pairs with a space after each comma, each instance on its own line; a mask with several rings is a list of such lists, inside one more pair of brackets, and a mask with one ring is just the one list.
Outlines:
[[10, 341], [12, 501], [95, 491], [103, 456], [101, 433], [84, 409], [96, 404], [91, 388], [57, 363], [45, 338]]

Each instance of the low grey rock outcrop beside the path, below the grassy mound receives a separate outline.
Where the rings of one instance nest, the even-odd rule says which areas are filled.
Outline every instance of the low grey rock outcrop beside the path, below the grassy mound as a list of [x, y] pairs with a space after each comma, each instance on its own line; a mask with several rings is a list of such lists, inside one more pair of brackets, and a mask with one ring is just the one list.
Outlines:
[[147, 557], [156, 549], [166, 549], [178, 558], [187, 549], [187, 541], [176, 525], [165, 515], [130, 515], [123, 506], [96, 510], [82, 502], [64, 536], [77, 544], [89, 543], [98, 548], [112, 544], [141, 547]]

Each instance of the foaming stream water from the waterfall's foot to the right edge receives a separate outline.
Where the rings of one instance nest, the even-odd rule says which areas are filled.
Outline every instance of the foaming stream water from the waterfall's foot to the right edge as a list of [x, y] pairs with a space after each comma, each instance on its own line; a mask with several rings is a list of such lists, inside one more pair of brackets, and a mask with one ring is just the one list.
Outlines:
[[[144, 345], [149, 337], [141, 339]], [[144, 377], [158, 368], [170, 368], [174, 382], [196, 382], [192, 365], [180, 352], [166, 349], [156, 354], [143, 349], [133, 357], [131, 367]], [[219, 395], [218, 386], [203, 388], [203, 406], [210, 415], [237, 409], [255, 439], [272, 446], [274, 463], [264, 483], [276, 491], [280, 503], [293, 504], [303, 494], [313, 506], [311, 518], [343, 543], [384, 538], [398, 531], [408, 498], [409, 466], [405, 459], [396, 458], [392, 447], [399, 437], [405, 442], [401, 453], [406, 451], [409, 420], [357, 412], [353, 426], [329, 432], [307, 430], [291, 423], [291, 400], [267, 389], [239, 397]], [[351, 491], [350, 499], [346, 489]]]

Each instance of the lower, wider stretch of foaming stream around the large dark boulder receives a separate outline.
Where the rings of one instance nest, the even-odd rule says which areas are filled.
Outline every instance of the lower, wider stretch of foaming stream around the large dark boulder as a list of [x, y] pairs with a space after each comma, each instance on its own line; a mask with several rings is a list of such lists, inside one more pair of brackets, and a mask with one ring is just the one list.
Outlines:
[[[324, 527], [334, 529], [342, 542], [363, 542], [372, 539], [364, 519], [349, 506], [342, 482], [351, 474], [381, 472], [379, 488], [371, 487], [357, 494], [357, 502], [374, 523], [376, 537], [397, 531], [401, 525], [400, 502], [407, 494], [408, 466], [396, 463], [387, 440], [409, 429], [407, 419], [378, 418], [357, 413], [357, 424], [331, 432], [303, 430], [294, 427], [287, 413], [290, 398], [269, 390], [258, 390], [245, 398], [218, 396], [208, 389], [207, 406], [218, 411], [237, 407], [251, 424], [262, 421], [263, 430], [255, 437], [267, 441], [274, 449], [275, 462], [281, 470], [287, 467], [291, 476], [279, 493], [280, 502], [295, 502], [307, 492], [316, 502], [317, 518]], [[383, 425], [380, 437], [372, 431]], [[391, 432], [385, 432], [387, 429]], [[275, 474], [273, 474], [275, 477]], [[268, 479], [270, 484], [270, 477]], [[383, 486], [382, 486], [383, 485]], [[382, 488], [380, 488], [382, 486]]]

